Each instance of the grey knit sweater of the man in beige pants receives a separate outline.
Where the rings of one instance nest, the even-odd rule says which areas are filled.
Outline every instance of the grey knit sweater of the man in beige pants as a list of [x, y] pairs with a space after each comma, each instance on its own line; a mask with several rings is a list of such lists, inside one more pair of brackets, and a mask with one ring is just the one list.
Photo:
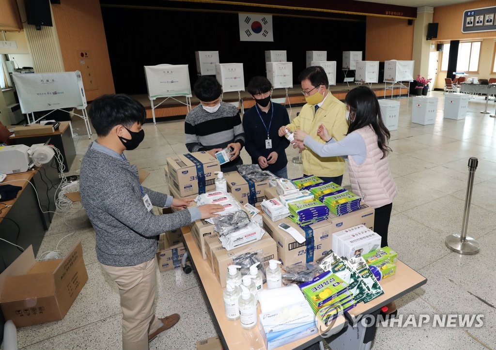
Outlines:
[[[109, 266], [134, 266], [153, 259], [157, 235], [191, 223], [188, 210], [155, 215], [143, 204], [138, 170], [125, 160], [91, 149], [80, 172], [81, 202], [96, 232], [98, 261]], [[143, 187], [153, 205], [167, 194]]]

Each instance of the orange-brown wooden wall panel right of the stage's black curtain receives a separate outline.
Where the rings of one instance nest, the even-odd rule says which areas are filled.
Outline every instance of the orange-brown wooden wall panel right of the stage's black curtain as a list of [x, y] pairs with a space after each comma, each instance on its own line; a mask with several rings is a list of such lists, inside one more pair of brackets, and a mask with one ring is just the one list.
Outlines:
[[406, 19], [367, 16], [365, 59], [411, 60], [414, 24], [408, 25]]

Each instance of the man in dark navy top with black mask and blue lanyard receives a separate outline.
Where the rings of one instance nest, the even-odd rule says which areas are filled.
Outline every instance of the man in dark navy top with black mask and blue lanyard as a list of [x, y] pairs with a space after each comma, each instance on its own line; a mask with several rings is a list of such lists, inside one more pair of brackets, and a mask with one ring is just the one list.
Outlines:
[[243, 116], [245, 148], [251, 163], [268, 170], [278, 177], [288, 177], [286, 147], [289, 141], [278, 135], [281, 126], [289, 124], [286, 108], [270, 101], [272, 84], [262, 76], [253, 77], [247, 91], [256, 101]]

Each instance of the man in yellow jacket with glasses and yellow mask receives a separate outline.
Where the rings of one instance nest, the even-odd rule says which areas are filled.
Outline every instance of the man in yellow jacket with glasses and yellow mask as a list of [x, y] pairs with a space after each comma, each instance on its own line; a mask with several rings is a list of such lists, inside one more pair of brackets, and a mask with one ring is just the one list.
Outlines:
[[[329, 92], [329, 81], [324, 68], [312, 66], [305, 69], [298, 76], [302, 83], [302, 93], [307, 104], [302, 107], [300, 115], [293, 122], [282, 126], [279, 135], [290, 131], [303, 130], [313, 139], [325, 143], [318, 135], [320, 124], [325, 125], [329, 134], [336, 140], [341, 140], [348, 132], [346, 120], [346, 106]], [[327, 140], [328, 141], [328, 140]], [[344, 159], [341, 157], [319, 157], [310, 149], [305, 148], [303, 142], [295, 142], [294, 147], [300, 148], [303, 161], [303, 174], [316, 175], [324, 181], [332, 181], [341, 185], [344, 173]]]

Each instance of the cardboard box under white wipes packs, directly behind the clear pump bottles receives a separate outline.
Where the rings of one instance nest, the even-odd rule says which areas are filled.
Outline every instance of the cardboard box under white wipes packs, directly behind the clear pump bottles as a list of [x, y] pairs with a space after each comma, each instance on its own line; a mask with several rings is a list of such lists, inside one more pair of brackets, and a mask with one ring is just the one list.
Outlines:
[[260, 240], [227, 251], [222, 246], [212, 249], [213, 269], [217, 280], [222, 288], [226, 287], [227, 267], [233, 265], [233, 258], [257, 250], [262, 251], [262, 262], [277, 259], [276, 242], [268, 234], [264, 234]]

